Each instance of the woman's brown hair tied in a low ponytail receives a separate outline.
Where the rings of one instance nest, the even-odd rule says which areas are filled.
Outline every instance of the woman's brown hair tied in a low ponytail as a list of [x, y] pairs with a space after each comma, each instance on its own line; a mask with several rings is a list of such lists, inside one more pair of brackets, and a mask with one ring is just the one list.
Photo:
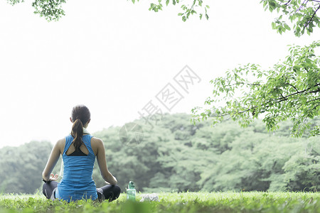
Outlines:
[[83, 124], [86, 124], [90, 119], [90, 111], [85, 107], [85, 105], [77, 105], [73, 107], [71, 111], [71, 120], [73, 121], [73, 129], [71, 130], [71, 135], [73, 136], [73, 146], [75, 150], [80, 148], [82, 145], [82, 135], [83, 135]]

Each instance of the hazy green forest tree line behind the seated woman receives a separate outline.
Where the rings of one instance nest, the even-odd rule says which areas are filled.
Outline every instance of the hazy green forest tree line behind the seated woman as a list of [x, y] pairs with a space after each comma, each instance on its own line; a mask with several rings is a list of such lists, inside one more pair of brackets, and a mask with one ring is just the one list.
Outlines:
[[[119, 140], [120, 126], [92, 133], [104, 141], [108, 169], [122, 192], [129, 180], [141, 192], [319, 191], [319, 137], [290, 137], [289, 121], [267, 132], [259, 120], [242, 129], [234, 121], [194, 126], [190, 117], [165, 114], [153, 129], [143, 128], [143, 141], [134, 147]], [[31, 141], [1, 148], [0, 193], [41, 190], [52, 147], [49, 141]], [[53, 172], [59, 170], [60, 160]], [[97, 163], [92, 177], [97, 187], [103, 185]]]

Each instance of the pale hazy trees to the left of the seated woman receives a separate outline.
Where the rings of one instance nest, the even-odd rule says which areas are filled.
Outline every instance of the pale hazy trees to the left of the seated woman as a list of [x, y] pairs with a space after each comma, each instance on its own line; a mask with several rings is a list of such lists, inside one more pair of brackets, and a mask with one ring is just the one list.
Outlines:
[[52, 144], [31, 141], [17, 147], [0, 149], [0, 193], [32, 194], [41, 187], [41, 173]]

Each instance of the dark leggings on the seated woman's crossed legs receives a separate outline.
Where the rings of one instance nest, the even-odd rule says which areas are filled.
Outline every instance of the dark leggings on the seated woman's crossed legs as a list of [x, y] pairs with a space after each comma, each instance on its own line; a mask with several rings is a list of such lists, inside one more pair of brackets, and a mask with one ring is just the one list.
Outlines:
[[[48, 199], [55, 198], [52, 196], [53, 192], [55, 193], [56, 188], [58, 187], [58, 182], [50, 181], [43, 184], [42, 192]], [[116, 200], [120, 195], [120, 187], [118, 185], [105, 185], [101, 188], [97, 188], [98, 200]]]

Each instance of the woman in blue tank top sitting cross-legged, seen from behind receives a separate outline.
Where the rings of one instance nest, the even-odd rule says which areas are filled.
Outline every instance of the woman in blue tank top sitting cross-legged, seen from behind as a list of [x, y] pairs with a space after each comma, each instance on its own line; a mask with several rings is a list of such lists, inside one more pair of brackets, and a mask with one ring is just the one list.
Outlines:
[[[84, 105], [73, 107], [70, 121], [73, 129], [70, 135], [60, 139], [53, 147], [46, 168], [42, 173], [45, 184], [43, 195], [51, 200], [66, 200], [68, 202], [91, 200], [116, 200], [120, 194], [117, 179], [107, 169], [105, 146], [100, 138], [95, 138], [87, 131], [90, 123], [90, 111]], [[63, 179], [51, 174], [60, 155], [63, 156]], [[102, 178], [107, 185], [96, 188], [92, 179], [92, 170], [97, 156], [97, 163]], [[50, 175], [51, 174], [51, 175]]]

